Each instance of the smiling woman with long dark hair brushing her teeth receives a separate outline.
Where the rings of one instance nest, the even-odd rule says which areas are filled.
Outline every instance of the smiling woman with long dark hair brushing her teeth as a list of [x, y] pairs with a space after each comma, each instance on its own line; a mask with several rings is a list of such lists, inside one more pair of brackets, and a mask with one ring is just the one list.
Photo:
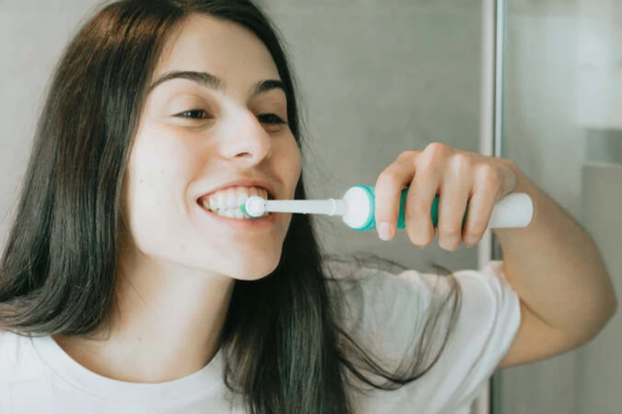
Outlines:
[[0, 412], [466, 413], [495, 368], [614, 314], [590, 237], [505, 159], [431, 144], [377, 179], [382, 239], [408, 186], [411, 241], [439, 193], [450, 251], [531, 196], [528, 228], [496, 230], [505, 261], [453, 277], [326, 262], [305, 215], [232, 217], [241, 194], [305, 198], [301, 142], [249, 1], [98, 12], [53, 78], [1, 262]]

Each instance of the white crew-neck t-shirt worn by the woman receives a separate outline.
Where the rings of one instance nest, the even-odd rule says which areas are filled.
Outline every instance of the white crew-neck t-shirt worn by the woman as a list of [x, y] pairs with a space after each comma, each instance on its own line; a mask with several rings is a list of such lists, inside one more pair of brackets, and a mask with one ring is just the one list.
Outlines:
[[[351, 311], [344, 316], [343, 326], [353, 337], [370, 341], [365, 349], [371, 347], [386, 353], [388, 362], [399, 362], [413, 335], [421, 333], [426, 309], [436, 300], [431, 287], [438, 282], [444, 295], [448, 279], [416, 270], [366, 274], [371, 277], [362, 279], [358, 288], [343, 285], [340, 299]], [[348, 391], [355, 395], [357, 413], [469, 413], [471, 402], [511, 346], [520, 325], [520, 308], [518, 296], [505, 281], [502, 262], [454, 275], [462, 288], [462, 303], [455, 331], [436, 364], [395, 391], [375, 390], [369, 395]], [[122, 382], [77, 364], [50, 336], [30, 339], [0, 333], [2, 414], [244, 413], [239, 401], [230, 409], [222, 373], [218, 351], [200, 371], [179, 380]]]

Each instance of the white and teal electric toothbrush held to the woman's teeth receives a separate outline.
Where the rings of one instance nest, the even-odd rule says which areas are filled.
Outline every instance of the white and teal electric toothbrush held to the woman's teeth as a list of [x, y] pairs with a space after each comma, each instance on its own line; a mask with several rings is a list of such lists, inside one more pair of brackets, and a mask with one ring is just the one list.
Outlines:
[[[353, 186], [348, 188], [341, 199], [326, 200], [266, 200], [252, 196], [241, 206], [247, 217], [261, 217], [265, 213], [302, 213], [339, 215], [343, 222], [354, 230], [375, 230], [375, 188], [373, 186]], [[404, 228], [404, 206], [408, 188], [402, 190], [399, 203], [397, 228]], [[434, 227], [438, 224], [438, 200], [434, 198], [431, 216]], [[531, 222], [534, 205], [526, 193], [510, 193], [493, 207], [489, 219], [490, 228], [524, 228]], [[462, 219], [462, 226], [466, 212]]]

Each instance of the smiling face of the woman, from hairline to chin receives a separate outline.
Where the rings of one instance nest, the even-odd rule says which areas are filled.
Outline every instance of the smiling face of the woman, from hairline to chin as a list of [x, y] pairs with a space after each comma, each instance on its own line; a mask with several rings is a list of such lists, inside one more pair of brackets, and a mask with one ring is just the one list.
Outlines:
[[[205, 204], [222, 209], [265, 187], [294, 197], [301, 158], [280, 80], [267, 48], [235, 23], [197, 14], [171, 35], [124, 181], [124, 217], [141, 256], [236, 279], [276, 268], [290, 214], [238, 219]], [[258, 181], [232, 186], [244, 179]]]

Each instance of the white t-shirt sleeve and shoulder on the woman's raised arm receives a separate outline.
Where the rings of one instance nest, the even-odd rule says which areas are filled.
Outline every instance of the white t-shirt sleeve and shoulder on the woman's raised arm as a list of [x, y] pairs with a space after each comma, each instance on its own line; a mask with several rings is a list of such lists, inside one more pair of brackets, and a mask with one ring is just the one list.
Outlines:
[[[381, 405], [375, 409], [393, 412], [404, 404], [404, 412], [416, 407], [422, 413], [455, 413], [478, 396], [509, 351], [520, 326], [520, 301], [505, 279], [502, 262], [453, 275], [460, 286], [460, 300], [442, 353], [419, 379], [400, 390], [377, 393], [375, 403]], [[384, 357], [388, 367], [397, 368], [399, 362], [413, 362], [417, 355], [414, 346], [428, 317], [441, 312], [437, 328], [424, 342], [434, 357], [447, 333], [451, 302], [445, 299], [452, 280], [416, 270], [397, 275], [377, 273], [361, 284], [359, 295], [352, 296], [359, 299], [348, 301], [350, 328], [367, 349], [371, 347]], [[357, 306], [357, 302], [361, 303]], [[370, 402], [368, 408], [372, 405]]]

